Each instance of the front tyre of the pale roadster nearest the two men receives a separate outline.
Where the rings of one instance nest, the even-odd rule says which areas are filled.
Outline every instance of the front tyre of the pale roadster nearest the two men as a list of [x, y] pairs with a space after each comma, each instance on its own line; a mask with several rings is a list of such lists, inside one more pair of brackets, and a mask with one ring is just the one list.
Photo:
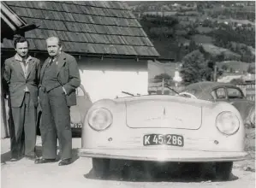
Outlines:
[[110, 159], [92, 158], [93, 175], [97, 178], [104, 178], [110, 171]]

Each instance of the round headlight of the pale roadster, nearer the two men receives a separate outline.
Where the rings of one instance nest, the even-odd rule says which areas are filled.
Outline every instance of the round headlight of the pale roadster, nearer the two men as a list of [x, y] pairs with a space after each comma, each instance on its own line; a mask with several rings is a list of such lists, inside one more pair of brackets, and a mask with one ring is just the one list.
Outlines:
[[103, 131], [112, 124], [113, 116], [108, 109], [94, 109], [88, 115], [88, 123], [92, 129]]

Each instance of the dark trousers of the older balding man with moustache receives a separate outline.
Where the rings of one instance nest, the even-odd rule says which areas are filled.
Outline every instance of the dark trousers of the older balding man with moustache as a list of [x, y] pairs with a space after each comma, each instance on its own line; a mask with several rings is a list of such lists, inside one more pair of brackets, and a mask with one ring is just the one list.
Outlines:
[[62, 159], [71, 158], [70, 110], [62, 86], [48, 92], [45, 91], [45, 87], [40, 88], [39, 98], [42, 108], [40, 131], [43, 158], [57, 158], [57, 138]]

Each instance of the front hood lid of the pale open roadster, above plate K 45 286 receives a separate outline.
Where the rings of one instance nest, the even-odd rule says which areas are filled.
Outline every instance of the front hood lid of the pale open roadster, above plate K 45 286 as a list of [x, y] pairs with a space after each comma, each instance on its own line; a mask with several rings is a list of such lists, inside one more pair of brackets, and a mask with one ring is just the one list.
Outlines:
[[176, 96], [126, 97], [115, 100], [126, 105], [126, 122], [131, 128], [199, 129], [203, 107], [211, 102]]

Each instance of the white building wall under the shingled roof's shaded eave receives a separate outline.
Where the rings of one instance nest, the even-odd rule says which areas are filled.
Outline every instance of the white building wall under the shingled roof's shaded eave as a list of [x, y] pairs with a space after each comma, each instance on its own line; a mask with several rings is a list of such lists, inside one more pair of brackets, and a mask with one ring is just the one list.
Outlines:
[[78, 61], [81, 84], [92, 103], [102, 98], [125, 97], [122, 91], [147, 94], [147, 62], [134, 60], [81, 58]]

